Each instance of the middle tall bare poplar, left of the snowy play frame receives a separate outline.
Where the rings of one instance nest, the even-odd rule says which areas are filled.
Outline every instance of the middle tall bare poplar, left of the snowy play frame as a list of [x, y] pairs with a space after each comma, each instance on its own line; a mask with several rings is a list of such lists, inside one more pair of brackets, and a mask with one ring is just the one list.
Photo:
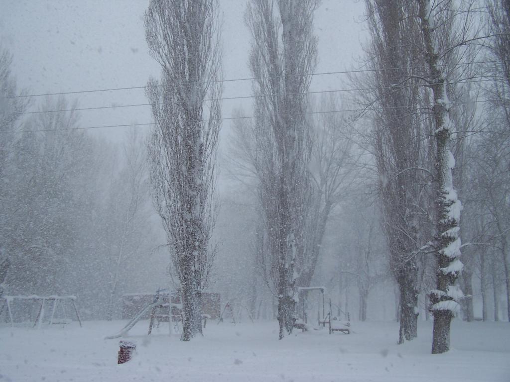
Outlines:
[[246, 23], [252, 35], [250, 69], [256, 77], [253, 136], [278, 298], [279, 339], [294, 323], [296, 259], [304, 250], [310, 186], [305, 92], [317, 57], [313, 12], [317, 0], [252, 0]]

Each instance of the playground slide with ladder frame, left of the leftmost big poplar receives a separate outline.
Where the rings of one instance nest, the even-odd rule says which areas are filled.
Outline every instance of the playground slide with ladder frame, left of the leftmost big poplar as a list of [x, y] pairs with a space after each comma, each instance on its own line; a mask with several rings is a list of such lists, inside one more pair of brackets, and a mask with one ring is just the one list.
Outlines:
[[[175, 304], [171, 302], [172, 293], [169, 289], [158, 289], [156, 294], [154, 295], [154, 299], [151, 304], [143, 307], [136, 315], [133, 317], [125, 326], [120, 330], [120, 332], [114, 334], [113, 336], [105, 337], [105, 339], [110, 340], [114, 338], [119, 338], [126, 336], [127, 333], [133, 326], [136, 325], [138, 321], [144, 318], [145, 314], [150, 311], [150, 321], [149, 321], [149, 331], [148, 334], [152, 332], [152, 328], [154, 327], [155, 322], [157, 321], [157, 325], [159, 326], [161, 321], [168, 320], [169, 322], [169, 330], [170, 334], [172, 333], [172, 323], [179, 320], [182, 320], [182, 299], [181, 304]], [[179, 315], [172, 314], [172, 308], [179, 310]], [[165, 312], [166, 310], [166, 312]]]

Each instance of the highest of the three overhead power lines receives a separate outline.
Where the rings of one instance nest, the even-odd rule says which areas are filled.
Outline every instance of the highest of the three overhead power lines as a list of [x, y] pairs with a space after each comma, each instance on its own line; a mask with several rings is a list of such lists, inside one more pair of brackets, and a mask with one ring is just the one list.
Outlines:
[[[506, 62], [508, 60], [493, 60], [493, 61], [472, 61], [466, 63], [457, 63], [457, 64], [438, 64], [436, 66], [457, 66], [457, 65], [472, 65], [472, 64], [491, 64], [491, 63], [499, 63]], [[304, 74], [290, 74], [289, 77], [307, 77], [314, 75], [330, 75], [330, 74], [352, 74], [352, 73], [366, 73], [366, 72], [380, 72], [386, 70], [403, 70], [403, 69], [426, 69], [428, 65], [422, 66], [406, 66], [400, 68], [381, 68], [381, 69], [358, 69], [358, 70], [343, 70], [336, 72], [319, 72], [319, 73], [304, 73]], [[249, 80], [257, 80], [257, 79], [267, 79], [267, 78], [281, 78], [285, 77], [285, 74], [279, 74], [274, 76], [265, 76], [265, 77], [245, 77], [245, 78], [230, 78], [230, 79], [218, 79], [211, 81], [190, 81], [187, 83], [182, 83], [183, 85], [190, 84], [205, 84], [205, 83], [227, 83], [227, 82], [235, 82], [235, 81], [249, 81]], [[165, 85], [158, 85], [158, 87], [164, 87]], [[28, 97], [42, 97], [42, 96], [54, 96], [54, 95], [67, 95], [67, 94], [80, 94], [80, 93], [96, 93], [96, 92], [109, 92], [116, 90], [132, 90], [132, 89], [146, 89], [148, 86], [131, 86], [124, 88], [108, 88], [108, 89], [93, 89], [93, 90], [77, 90], [70, 92], [58, 92], [58, 93], [40, 93], [40, 94], [28, 94], [28, 95], [17, 95], [10, 96], [8, 98], [28, 98]]]

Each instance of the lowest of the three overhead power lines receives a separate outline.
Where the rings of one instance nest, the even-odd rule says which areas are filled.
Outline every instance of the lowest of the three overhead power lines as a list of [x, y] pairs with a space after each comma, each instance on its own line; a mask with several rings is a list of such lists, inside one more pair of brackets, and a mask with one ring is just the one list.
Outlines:
[[[480, 102], [494, 102], [495, 100], [487, 99], [487, 100], [478, 100], [478, 101], [470, 101], [470, 102], [455, 102], [452, 106], [466, 104], [466, 103], [480, 103]], [[292, 114], [291, 116], [305, 116], [305, 115], [317, 115], [317, 114], [334, 114], [334, 113], [353, 113], [353, 112], [370, 112], [370, 111], [382, 111], [388, 109], [400, 109], [400, 108], [408, 108], [409, 106], [389, 106], [389, 107], [372, 107], [372, 108], [359, 108], [359, 109], [341, 109], [341, 110], [328, 110], [328, 111], [318, 111], [318, 112], [307, 112], [307, 113], [299, 113]], [[428, 107], [420, 107], [417, 109], [421, 110], [429, 110]], [[227, 121], [227, 120], [236, 120], [236, 119], [254, 119], [254, 118], [274, 118], [275, 115], [270, 116], [240, 116], [240, 117], [224, 117], [224, 118], [211, 118], [211, 119], [200, 119], [193, 122], [212, 122], [212, 121]], [[103, 129], [103, 128], [112, 128], [112, 127], [131, 127], [131, 126], [152, 126], [156, 125], [155, 122], [151, 123], [130, 123], [125, 125], [103, 125], [103, 126], [86, 126], [86, 127], [69, 127], [63, 129], [37, 129], [37, 130], [14, 130], [14, 131], [2, 131], [0, 134], [9, 134], [9, 133], [23, 133], [23, 132], [50, 132], [50, 131], [66, 131], [66, 130], [88, 130], [88, 129]]]

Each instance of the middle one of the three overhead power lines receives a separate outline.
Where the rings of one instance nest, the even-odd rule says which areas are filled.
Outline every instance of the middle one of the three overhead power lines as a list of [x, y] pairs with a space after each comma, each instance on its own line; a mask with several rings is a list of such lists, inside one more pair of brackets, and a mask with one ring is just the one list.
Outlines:
[[[477, 79], [473, 80], [473, 78], [484, 78], [483, 76], [475, 76], [469, 78], [469, 80], [461, 80], [456, 81], [455, 84], [472, 84], [472, 83], [481, 83], [492, 81], [492, 79]], [[428, 84], [437, 85], [437, 84]], [[411, 88], [414, 85], [397, 85], [397, 86], [382, 86], [382, 87], [374, 87], [374, 88], [351, 88], [351, 89], [336, 89], [336, 90], [321, 90], [321, 91], [312, 91], [312, 92], [300, 92], [300, 93], [290, 93], [289, 95], [306, 95], [306, 94], [323, 94], [323, 93], [341, 93], [341, 92], [352, 92], [352, 91], [373, 91], [378, 89], [403, 89], [403, 88]], [[249, 96], [239, 96], [239, 97], [222, 97], [222, 98], [208, 98], [204, 99], [203, 102], [208, 101], [227, 101], [234, 99], [249, 99], [249, 98], [263, 98], [267, 97], [266, 95], [249, 95]], [[162, 102], [158, 103], [161, 105]], [[45, 113], [63, 113], [63, 112], [78, 112], [78, 111], [90, 111], [90, 110], [103, 110], [117, 107], [136, 107], [136, 106], [150, 106], [151, 103], [135, 103], [128, 105], [110, 105], [110, 106], [96, 106], [96, 107], [79, 107], [79, 108], [69, 108], [69, 109], [60, 109], [60, 110], [40, 110], [36, 112], [22, 112], [22, 113], [13, 113], [14, 115], [26, 115], [26, 114], [45, 114]]]

